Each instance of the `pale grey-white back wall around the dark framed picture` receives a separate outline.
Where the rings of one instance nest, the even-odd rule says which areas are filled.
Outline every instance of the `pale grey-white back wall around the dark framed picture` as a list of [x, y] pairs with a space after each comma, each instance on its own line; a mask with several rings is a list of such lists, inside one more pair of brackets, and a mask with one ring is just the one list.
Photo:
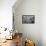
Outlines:
[[[15, 6], [13, 7], [15, 29], [22, 32], [24, 38], [34, 40], [36, 46], [41, 46], [41, 1], [23, 0], [16, 8]], [[22, 24], [22, 15], [35, 15], [35, 24]]]

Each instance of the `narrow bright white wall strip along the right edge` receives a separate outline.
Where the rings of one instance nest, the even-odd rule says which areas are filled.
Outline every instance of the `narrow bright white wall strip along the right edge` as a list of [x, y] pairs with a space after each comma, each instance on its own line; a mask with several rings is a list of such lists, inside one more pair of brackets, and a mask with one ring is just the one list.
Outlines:
[[41, 1], [41, 39], [42, 46], [46, 46], [46, 0]]

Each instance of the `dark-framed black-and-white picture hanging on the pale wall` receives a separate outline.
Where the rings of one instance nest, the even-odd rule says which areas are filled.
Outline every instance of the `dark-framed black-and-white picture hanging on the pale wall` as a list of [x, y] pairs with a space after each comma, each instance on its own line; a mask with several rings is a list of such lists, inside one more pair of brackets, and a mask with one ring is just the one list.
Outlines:
[[35, 23], [35, 15], [22, 16], [22, 24], [34, 24], [34, 23]]

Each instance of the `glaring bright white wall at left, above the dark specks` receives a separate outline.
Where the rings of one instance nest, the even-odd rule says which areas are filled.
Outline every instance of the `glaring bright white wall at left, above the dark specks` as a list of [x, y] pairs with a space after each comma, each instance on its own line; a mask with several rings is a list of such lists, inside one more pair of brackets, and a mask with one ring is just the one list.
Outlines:
[[12, 28], [12, 6], [16, 0], [0, 0], [0, 27]]

